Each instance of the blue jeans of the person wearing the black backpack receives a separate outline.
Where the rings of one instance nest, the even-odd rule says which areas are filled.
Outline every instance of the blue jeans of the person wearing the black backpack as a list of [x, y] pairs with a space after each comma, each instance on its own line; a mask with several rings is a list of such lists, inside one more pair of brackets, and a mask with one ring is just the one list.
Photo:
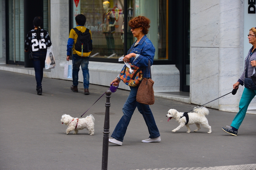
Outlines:
[[78, 86], [78, 72], [79, 67], [81, 66], [83, 71], [83, 87], [89, 88], [89, 57], [81, 57], [77, 54], [73, 54], [72, 56], [72, 63], [73, 63], [73, 71], [72, 71], [72, 77], [73, 77], [73, 85]]

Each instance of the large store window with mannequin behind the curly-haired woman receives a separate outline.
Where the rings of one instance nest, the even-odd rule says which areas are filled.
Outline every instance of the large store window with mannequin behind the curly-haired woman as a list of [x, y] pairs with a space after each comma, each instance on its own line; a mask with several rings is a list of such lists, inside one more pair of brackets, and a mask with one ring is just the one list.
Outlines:
[[[92, 32], [93, 51], [90, 60], [118, 62], [118, 58], [124, 55], [124, 17], [129, 21], [139, 15], [151, 20], [147, 37], [156, 49], [154, 60], [169, 60], [166, 0], [127, 0], [127, 16], [123, 15], [124, 0], [72, 0], [71, 6], [71, 28], [76, 27], [75, 16], [83, 14], [86, 16], [84, 26]], [[127, 28], [128, 49], [136, 41], [130, 29]]]

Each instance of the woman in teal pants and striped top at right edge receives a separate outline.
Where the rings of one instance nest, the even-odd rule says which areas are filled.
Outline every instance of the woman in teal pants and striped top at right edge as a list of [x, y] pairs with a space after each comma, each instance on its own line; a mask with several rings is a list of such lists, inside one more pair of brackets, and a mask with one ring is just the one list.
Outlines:
[[245, 88], [242, 94], [242, 97], [240, 99], [239, 103], [239, 111], [235, 118], [233, 119], [233, 122], [231, 123], [231, 127], [227, 126], [228, 128], [222, 127], [222, 130], [226, 133], [229, 133], [231, 135], [237, 136], [237, 131], [244, 120], [247, 108], [249, 104], [251, 103], [252, 99], [256, 95], [256, 87], [253, 88], [252, 86], [246, 86], [247, 83], [245, 83], [245, 78], [251, 78], [253, 74], [253, 69], [256, 67], [256, 27], [251, 28], [250, 32], [248, 34], [249, 43], [251, 43], [253, 46], [249, 50], [248, 55], [245, 58], [245, 65], [244, 65], [244, 72], [241, 75], [241, 77], [238, 79], [238, 81], [233, 84], [233, 88], [238, 88], [238, 86], [241, 84], [242, 86], [245, 84]]

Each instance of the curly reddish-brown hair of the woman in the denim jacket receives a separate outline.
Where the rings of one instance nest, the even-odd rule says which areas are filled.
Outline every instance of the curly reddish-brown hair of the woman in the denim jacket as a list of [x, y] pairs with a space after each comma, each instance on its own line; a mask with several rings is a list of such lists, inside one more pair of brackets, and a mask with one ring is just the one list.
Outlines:
[[137, 16], [134, 17], [133, 19], [129, 20], [129, 27], [131, 28], [138, 28], [142, 27], [142, 32], [144, 34], [148, 33], [148, 28], [150, 27], [150, 19], [144, 16]]

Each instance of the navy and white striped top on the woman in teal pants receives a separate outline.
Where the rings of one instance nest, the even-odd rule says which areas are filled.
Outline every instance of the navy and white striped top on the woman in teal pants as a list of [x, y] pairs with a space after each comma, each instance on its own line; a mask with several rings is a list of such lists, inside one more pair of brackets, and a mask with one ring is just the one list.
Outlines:
[[254, 67], [252, 67], [251, 65], [251, 61], [256, 60], [256, 50], [254, 50], [252, 52], [253, 47], [249, 50], [245, 60], [244, 60], [244, 72], [241, 75], [241, 77], [238, 79], [238, 82], [243, 86], [244, 85], [244, 79], [245, 79], [245, 73], [246, 73], [246, 68], [248, 68], [247, 70], [247, 78], [251, 78], [252, 74], [253, 74], [253, 69]]

